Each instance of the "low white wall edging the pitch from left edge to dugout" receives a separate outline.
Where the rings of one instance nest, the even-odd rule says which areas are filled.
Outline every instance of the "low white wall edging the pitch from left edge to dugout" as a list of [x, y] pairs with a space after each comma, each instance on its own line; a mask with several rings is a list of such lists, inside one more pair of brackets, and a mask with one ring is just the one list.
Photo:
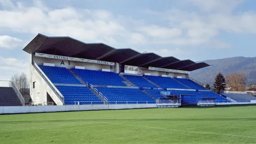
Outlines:
[[69, 105], [69, 106], [10, 106], [0, 107], [0, 114], [45, 113], [57, 111], [83, 111], [108, 109], [156, 108], [156, 104], [131, 105]]

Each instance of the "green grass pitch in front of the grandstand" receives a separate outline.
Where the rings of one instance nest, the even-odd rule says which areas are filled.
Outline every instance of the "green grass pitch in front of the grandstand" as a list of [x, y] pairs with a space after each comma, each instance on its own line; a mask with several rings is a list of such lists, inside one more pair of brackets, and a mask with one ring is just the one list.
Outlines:
[[256, 143], [256, 106], [0, 115], [0, 143]]

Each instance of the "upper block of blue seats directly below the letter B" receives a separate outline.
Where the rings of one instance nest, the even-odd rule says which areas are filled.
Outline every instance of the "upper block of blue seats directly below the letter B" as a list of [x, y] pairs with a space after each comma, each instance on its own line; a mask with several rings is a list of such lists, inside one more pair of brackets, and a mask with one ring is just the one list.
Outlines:
[[123, 83], [125, 80], [113, 72], [75, 68], [72, 70], [75, 71], [84, 82], [88, 82], [92, 85], [126, 86], [125, 83]]

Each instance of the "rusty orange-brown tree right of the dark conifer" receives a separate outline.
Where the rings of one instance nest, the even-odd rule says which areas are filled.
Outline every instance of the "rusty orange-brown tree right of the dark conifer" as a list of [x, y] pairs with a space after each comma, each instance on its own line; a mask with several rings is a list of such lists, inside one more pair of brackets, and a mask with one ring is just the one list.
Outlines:
[[233, 91], [244, 91], [245, 84], [245, 74], [231, 74], [227, 76], [228, 86], [231, 87]]

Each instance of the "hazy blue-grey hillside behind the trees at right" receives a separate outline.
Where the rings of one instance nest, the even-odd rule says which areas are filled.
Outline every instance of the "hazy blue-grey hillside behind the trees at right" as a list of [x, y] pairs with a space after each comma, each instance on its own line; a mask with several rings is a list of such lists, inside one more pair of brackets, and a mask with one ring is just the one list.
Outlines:
[[234, 57], [217, 60], [205, 60], [209, 67], [192, 71], [190, 76], [202, 83], [212, 84], [217, 73], [229, 75], [233, 73], [244, 73], [246, 83], [256, 83], [256, 57]]

